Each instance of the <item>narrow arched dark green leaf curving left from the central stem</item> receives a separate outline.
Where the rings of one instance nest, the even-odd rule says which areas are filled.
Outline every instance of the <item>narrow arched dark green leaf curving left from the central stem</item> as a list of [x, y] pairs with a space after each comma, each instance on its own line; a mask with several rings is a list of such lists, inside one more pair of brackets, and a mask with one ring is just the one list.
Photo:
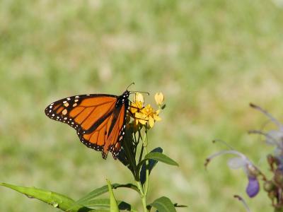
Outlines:
[[[139, 189], [137, 188], [137, 186], [135, 186], [134, 184], [111, 184], [112, 189], [117, 189], [117, 188], [129, 188], [129, 189], [134, 189], [135, 191], [137, 191], [139, 193]], [[103, 187], [100, 187], [98, 189], [93, 190], [92, 192], [89, 192], [88, 194], [86, 194], [85, 196], [83, 196], [81, 199], [79, 199], [78, 201], [76, 201], [76, 204], [81, 204], [81, 205], [86, 205], [86, 203], [88, 201], [90, 201], [91, 199], [95, 199], [97, 196], [100, 196], [102, 194], [105, 194], [108, 192], [108, 185], [105, 185]]]

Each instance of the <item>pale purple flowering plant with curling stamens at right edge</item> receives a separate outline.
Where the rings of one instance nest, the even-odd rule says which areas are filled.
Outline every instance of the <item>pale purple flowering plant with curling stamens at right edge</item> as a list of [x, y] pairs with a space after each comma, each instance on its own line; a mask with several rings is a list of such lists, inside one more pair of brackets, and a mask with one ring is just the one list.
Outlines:
[[[276, 129], [272, 129], [270, 131], [265, 131], [263, 129], [260, 130], [250, 130], [249, 134], [259, 134], [263, 136], [265, 139], [265, 143], [267, 145], [274, 146], [274, 151], [272, 153], [268, 153], [266, 156], [267, 164], [270, 168], [270, 172], [267, 177], [266, 173], [264, 173], [258, 165], [255, 165], [247, 155], [236, 151], [231, 146], [229, 146], [224, 141], [219, 141], [224, 143], [227, 150], [219, 151], [210, 155], [204, 165], [207, 165], [212, 161], [212, 159], [219, 157], [221, 155], [233, 155], [233, 158], [228, 160], [228, 165], [231, 169], [242, 169], [246, 174], [246, 179], [248, 184], [246, 185], [246, 194], [248, 194], [249, 198], [253, 198], [258, 195], [260, 192], [260, 184], [262, 184], [262, 192], [266, 192], [268, 198], [271, 201], [271, 206], [274, 208], [275, 212], [283, 211], [283, 124], [281, 124], [275, 117], [272, 116], [266, 110], [263, 110], [258, 105], [250, 104], [255, 110], [262, 112], [268, 118], [269, 122], [272, 122]], [[246, 204], [246, 201], [243, 197], [239, 195], [235, 195], [236, 199], [240, 200], [245, 206], [246, 211], [251, 211]]]

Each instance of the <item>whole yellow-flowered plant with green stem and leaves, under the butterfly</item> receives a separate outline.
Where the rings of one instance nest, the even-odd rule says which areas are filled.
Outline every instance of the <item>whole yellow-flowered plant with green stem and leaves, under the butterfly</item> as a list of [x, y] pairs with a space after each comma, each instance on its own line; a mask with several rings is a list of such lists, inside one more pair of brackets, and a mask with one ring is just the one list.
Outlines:
[[[157, 110], [151, 107], [151, 105], [145, 105], [144, 96], [141, 93], [135, 93], [134, 100], [130, 102], [127, 112], [125, 139], [122, 142], [122, 149], [119, 153], [118, 160], [125, 165], [125, 170], [129, 170], [129, 174], [132, 175], [133, 179], [132, 183], [110, 183], [106, 179], [107, 184], [94, 189], [77, 201], [71, 199], [69, 196], [35, 187], [19, 187], [6, 183], [0, 183], [0, 185], [14, 189], [30, 198], [39, 199], [62, 211], [70, 212], [137, 211], [137, 208], [127, 201], [121, 201], [115, 198], [115, 189], [120, 188], [132, 189], [137, 192], [137, 196], [141, 199], [144, 212], [176, 211], [176, 208], [185, 207], [176, 204], [166, 196], [158, 197], [151, 203], [147, 199], [150, 192], [150, 175], [156, 164], [161, 162], [178, 166], [178, 163], [163, 154], [161, 147], [149, 151], [148, 132], [153, 129], [156, 122], [161, 121], [159, 114], [166, 106], [162, 93], [156, 93], [154, 99], [156, 107], [158, 107]], [[103, 194], [107, 195], [107, 197], [101, 197]]]

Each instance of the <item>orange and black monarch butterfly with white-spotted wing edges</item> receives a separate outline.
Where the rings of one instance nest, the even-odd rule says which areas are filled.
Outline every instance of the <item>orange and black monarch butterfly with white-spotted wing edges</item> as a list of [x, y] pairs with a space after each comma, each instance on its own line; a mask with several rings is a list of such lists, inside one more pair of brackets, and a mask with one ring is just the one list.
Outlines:
[[101, 151], [104, 159], [110, 151], [116, 160], [125, 136], [129, 94], [126, 89], [120, 96], [74, 95], [51, 103], [45, 114], [76, 129], [81, 143]]

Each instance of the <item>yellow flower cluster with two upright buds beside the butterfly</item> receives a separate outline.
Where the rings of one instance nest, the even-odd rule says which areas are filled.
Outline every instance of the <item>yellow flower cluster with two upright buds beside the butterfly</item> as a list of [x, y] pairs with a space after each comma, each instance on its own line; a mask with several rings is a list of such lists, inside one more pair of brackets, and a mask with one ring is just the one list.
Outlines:
[[164, 96], [162, 93], [156, 93], [154, 96], [158, 110], [154, 110], [151, 105], [144, 106], [144, 96], [141, 93], [136, 93], [134, 102], [129, 105], [130, 115], [134, 118], [134, 124], [146, 125], [149, 124], [150, 128], [154, 126], [156, 121], [161, 121], [161, 117], [158, 116], [161, 105], [164, 102]]

